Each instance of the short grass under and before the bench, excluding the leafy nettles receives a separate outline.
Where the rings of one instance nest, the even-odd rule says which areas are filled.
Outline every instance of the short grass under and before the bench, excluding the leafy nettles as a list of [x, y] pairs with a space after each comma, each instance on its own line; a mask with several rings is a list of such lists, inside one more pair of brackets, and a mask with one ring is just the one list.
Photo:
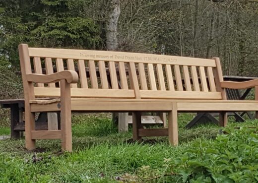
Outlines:
[[[0, 141], [0, 183], [170, 183], [176, 176], [167, 172], [164, 162], [178, 159], [195, 142], [212, 143], [216, 125], [184, 126], [193, 115], [179, 116], [178, 147], [168, 145], [167, 137], [152, 137], [132, 143], [129, 132], [117, 133], [110, 116], [73, 116], [73, 152], [61, 154], [60, 140], [39, 140], [39, 152], [28, 152], [24, 139]], [[257, 121], [230, 122], [229, 126], [257, 126]], [[0, 127], [0, 134], [9, 133]], [[147, 181], [153, 177], [159, 179]]]

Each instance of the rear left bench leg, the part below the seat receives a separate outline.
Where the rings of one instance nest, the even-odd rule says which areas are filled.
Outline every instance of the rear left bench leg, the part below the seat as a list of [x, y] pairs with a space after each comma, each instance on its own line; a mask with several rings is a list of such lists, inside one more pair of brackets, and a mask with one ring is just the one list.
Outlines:
[[30, 112], [29, 104], [27, 106], [25, 106], [25, 147], [33, 150], [36, 147], [36, 140], [31, 139], [31, 131], [35, 130], [35, 113]]

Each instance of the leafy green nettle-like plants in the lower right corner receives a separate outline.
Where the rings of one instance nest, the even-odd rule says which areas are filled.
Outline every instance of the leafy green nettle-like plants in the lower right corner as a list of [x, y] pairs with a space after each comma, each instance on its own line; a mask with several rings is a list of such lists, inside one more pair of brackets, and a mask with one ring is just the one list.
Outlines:
[[258, 181], [258, 128], [227, 128], [214, 141], [198, 139], [180, 158], [165, 162], [178, 183], [255, 183]]

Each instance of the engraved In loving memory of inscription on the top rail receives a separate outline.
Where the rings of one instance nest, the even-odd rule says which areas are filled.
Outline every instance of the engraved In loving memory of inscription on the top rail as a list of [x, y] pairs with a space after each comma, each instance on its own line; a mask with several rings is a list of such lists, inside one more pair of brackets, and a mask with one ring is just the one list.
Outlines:
[[162, 57], [138, 57], [138, 56], [125, 56], [125, 55], [93, 55], [80, 53], [80, 57], [88, 59], [98, 59], [98, 60], [121, 60], [121, 61], [162, 61], [168, 63], [178, 62], [175, 58], [162, 58]]

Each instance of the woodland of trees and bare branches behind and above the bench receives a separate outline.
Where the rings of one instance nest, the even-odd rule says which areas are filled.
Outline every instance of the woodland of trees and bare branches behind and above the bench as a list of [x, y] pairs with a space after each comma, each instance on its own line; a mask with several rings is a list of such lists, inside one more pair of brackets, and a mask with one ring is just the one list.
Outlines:
[[219, 57], [258, 76], [258, 0], [0, 0], [0, 99], [21, 98], [17, 47]]

